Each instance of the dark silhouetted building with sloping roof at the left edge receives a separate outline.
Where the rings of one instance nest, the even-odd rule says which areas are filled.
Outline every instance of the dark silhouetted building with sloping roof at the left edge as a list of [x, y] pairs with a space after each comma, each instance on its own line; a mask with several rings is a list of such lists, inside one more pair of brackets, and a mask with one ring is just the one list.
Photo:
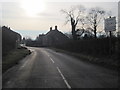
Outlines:
[[12, 31], [9, 27], [2, 27], [2, 55], [15, 49], [21, 41], [21, 35]]

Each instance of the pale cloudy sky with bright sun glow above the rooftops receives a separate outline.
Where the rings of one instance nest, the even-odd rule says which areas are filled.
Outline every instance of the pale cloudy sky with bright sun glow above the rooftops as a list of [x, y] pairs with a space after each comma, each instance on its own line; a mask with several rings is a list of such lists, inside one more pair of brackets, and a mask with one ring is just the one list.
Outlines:
[[[111, 2], [110, 2], [111, 1]], [[61, 9], [69, 10], [71, 6], [83, 5], [86, 9], [100, 7], [105, 11], [111, 11], [112, 16], [118, 17], [118, 0], [99, 0], [99, 2], [85, 0], [1, 0], [0, 18], [1, 24], [11, 27], [23, 37], [36, 36], [47, 33], [49, 28], [57, 25], [63, 32], [70, 32], [71, 27], [65, 25], [65, 15]], [[103, 27], [101, 27], [103, 29]]]

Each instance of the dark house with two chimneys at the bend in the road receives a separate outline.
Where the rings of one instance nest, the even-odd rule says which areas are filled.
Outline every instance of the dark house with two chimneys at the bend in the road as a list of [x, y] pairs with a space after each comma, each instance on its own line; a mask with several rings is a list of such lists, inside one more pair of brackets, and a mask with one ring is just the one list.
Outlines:
[[54, 46], [65, 43], [68, 41], [68, 37], [60, 32], [57, 26], [55, 26], [54, 30], [50, 27], [50, 31], [45, 35], [39, 35], [37, 40], [39, 41], [40, 46]]

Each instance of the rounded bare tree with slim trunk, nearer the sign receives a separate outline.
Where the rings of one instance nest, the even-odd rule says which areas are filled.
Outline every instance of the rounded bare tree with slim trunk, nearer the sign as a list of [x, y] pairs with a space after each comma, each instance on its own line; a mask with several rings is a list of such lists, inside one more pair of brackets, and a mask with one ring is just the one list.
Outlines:
[[97, 7], [91, 8], [87, 15], [88, 25], [91, 28], [91, 31], [94, 33], [95, 38], [97, 37], [97, 27], [100, 24], [104, 15], [105, 11]]

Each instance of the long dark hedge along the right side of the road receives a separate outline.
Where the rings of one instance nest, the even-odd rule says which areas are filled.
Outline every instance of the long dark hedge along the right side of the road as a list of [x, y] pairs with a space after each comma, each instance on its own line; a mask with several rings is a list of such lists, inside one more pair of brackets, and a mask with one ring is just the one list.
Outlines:
[[120, 58], [120, 37], [70, 40], [67, 43], [54, 47], [98, 57], [113, 56], [114, 59]]

